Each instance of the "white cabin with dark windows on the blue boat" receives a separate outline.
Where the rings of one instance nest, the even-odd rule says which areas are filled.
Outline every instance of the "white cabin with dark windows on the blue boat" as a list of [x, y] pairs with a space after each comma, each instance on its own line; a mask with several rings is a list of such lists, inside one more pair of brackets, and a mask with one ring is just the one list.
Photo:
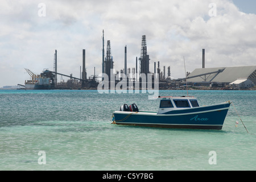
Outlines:
[[158, 114], [163, 114], [168, 111], [177, 109], [188, 109], [199, 107], [196, 97], [159, 97], [160, 105]]

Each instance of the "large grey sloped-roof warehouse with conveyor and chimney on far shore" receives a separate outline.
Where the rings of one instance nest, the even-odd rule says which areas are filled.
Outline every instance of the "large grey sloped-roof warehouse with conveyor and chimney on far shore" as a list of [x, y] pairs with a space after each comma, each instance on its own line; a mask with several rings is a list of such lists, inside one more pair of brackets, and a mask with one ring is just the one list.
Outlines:
[[187, 80], [179, 78], [176, 82], [186, 80], [190, 86], [229, 89], [248, 89], [256, 83], [256, 66], [205, 68], [205, 49], [202, 52], [202, 68], [188, 73]]

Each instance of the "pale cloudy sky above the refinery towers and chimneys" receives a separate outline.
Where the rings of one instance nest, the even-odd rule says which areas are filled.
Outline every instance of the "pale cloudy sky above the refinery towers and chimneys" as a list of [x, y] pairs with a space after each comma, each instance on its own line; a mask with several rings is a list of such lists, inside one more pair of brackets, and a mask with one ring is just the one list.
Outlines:
[[[256, 1], [246, 0], [20, 0], [0, 2], [0, 88], [24, 84], [53, 71], [80, 78], [82, 49], [87, 76], [102, 70], [102, 30], [110, 40], [114, 69], [135, 67], [146, 35], [150, 71], [154, 62], [171, 77], [205, 68], [256, 65]], [[63, 78], [67, 80], [67, 77]], [[60, 78], [58, 77], [58, 80]]]

